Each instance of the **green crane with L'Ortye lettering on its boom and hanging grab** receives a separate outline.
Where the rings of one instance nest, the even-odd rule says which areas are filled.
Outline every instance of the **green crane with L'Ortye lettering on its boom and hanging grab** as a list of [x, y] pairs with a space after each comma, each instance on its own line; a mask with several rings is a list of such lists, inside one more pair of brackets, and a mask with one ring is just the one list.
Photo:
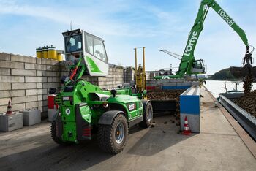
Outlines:
[[[192, 26], [192, 29], [189, 33], [189, 38], [187, 40], [187, 45], [185, 47], [183, 56], [181, 57], [181, 63], [179, 64], [178, 72], [176, 75], [164, 75], [164, 76], [157, 76], [154, 77], [155, 79], [170, 79], [170, 78], [182, 78], [185, 74], [187, 75], [197, 75], [197, 74], [205, 74], [206, 69], [203, 63], [203, 59], [195, 60], [194, 50], [195, 46], [197, 45], [197, 40], [201, 31], [203, 30], [203, 23], [206, 19], [208, 14], [209, 8], [214, 9], [217, 14], [225, 20], [225, 22], [233, 28], [234, 31], [239, 35], [239, 37], [244, 42], [246, 46], [246, 54], [244, 57], [244, 67], [247, 69], [252, 68], [252, 52], [249, 52], [249, 44], [246, 37], [246, 34], [243, 29], [241, 29], [235, 21], [227, 15], [227, 12], [223, 10], [219, 4], [217, 4], [214, 0], [202, 0], [200, 3], [200, 8], [197, 13], [197, 17], [195, 19], [195, 23]], [[253, 50], [252, 50], [253, 51]]]

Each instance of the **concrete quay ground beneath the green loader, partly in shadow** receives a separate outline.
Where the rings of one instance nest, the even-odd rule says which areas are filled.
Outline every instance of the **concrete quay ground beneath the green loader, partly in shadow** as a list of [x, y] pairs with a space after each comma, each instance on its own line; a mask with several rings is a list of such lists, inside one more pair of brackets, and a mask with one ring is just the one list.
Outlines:
[[[1, 170], [255, 170], [255, 157], [205, 88], [201, 88], [201, 132], [185, 136], [170, 120], [156, 116], [154, 127], [129, 130], [121, 153], [102, 152], [96, 141], [59, 146], [43, 121], [0, 133]], [[166, 123], [167, 122], [167, 123]], [[166, 123], [166, 124], [165, 124]]]

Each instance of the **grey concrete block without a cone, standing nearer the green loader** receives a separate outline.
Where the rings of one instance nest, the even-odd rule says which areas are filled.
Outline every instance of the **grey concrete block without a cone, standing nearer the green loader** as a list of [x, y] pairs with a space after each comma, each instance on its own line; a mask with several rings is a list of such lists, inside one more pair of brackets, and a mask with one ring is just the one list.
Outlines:
[[31, 126], [41, 122], [41, 111], [37, 109], [23, 111], [23, 125]]

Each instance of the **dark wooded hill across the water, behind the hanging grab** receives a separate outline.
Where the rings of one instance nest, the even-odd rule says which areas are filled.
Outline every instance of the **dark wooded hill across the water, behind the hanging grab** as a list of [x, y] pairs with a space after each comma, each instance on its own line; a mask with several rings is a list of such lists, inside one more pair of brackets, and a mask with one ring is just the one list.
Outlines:
[[[252, 73], [256, 76], [256, 66], [252, 68]], [[211, 76], [211, 80], [241, 80], [246, 75], [246, 70], [242, 67], [234, 67], [222, 69]]]

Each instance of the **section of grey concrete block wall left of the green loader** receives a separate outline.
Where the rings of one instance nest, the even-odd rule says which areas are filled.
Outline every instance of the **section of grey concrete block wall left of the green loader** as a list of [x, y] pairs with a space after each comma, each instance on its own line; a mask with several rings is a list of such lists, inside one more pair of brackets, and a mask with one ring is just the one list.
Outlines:
[[48, 90], [60, 86], [59, 61], [0, 53], [0, 113], [9, 99], [12, 110], [48, 110]]

